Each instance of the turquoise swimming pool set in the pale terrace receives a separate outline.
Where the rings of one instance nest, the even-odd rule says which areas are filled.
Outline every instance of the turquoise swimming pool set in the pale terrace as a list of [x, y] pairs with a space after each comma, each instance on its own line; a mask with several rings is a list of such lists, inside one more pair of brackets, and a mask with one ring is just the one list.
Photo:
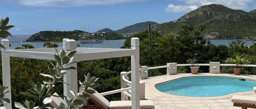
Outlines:
[[256, 81], [226, 76], [189, 76], [155, 85], [164, 93], [187, 97], [218, 97], [253, 91]]

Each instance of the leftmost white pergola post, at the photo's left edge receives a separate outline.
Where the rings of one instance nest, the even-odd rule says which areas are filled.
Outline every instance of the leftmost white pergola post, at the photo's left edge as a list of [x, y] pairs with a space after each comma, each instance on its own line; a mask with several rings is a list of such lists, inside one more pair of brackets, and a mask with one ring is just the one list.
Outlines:
[[[1, 40], [1, 44], [5, 47], [5, 49], [9, 49], [9, 40], [3, 39]], [[10, 103], [5, 103], [4, 106], [6, 108], [11, 109], [11, 74], [10, 74], [10, 56], [4, 54], [4, 48], [2, 48], [2, 78], [3, 78], [3, 86], [8, 86], [8, 93], [4, 94], [5, 98], [10, 100]]]

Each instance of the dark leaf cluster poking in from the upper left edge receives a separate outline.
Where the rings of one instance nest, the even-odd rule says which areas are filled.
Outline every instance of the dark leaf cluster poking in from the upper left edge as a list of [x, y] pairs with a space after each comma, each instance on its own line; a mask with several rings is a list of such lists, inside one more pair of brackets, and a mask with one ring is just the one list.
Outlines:
[[[1, 18], [0, 20], [0, 37], [5, 38], [8, 36], [11, 36], [11, 34], [9, 33], [9, 29], [13, 28], [14, 25], [8, 25], [9, 23], [9, 18], [6, 17], [4, 19]], [[0, 48], [4, 48], [4, 46], [2, 44], [0, 44]]]

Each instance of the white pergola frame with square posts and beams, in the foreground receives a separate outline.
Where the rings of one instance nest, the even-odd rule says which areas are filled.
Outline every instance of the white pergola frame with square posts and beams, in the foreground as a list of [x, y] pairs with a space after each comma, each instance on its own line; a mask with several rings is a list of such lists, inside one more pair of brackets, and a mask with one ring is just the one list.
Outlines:
[[[2, 40], [1, 43], [5, 47], [2, 48], [2, 78], [3, 86], [8, 86], [9, 93], [5, 94], [6, 98], [11, 100], [11, 80], [10, 80], [10, 57], [23, 57], [28, 59], [54, 60], [55, 48], [35, 48], [35, 49], [9, 49], [9, 40]], [[140, 91], [139, 91], [139, 39], [131, 39], [131, 49], [120, 48], [76, 48], [75, 40], [63, 39], [63, 47], [57, 48], [58, 51], [64, 49], [66, 51], [76, 50], [74, 61], [87, 61], [97, 59], [107, 59], [113, 57], [131, 56], [131, 72], [132, 72], [132, 109], [140, 107]], [[77, 67], [76, 63], [70, 66]], [[104, 73], [104, 72], [103, 72]], [[76, 70], [69, 70], [64, 75], [63, 92], [66, 97], [69, 91], [78, 92], [78, 76]], [[4, 106], [11, 109], [11, 103], [5, 103]]]

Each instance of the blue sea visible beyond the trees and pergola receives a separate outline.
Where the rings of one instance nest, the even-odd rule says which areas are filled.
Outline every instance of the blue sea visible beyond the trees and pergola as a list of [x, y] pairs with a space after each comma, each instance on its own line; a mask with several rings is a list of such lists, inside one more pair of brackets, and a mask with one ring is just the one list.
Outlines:
[[[35, 48], [43, 48], [43, 44], [45, 42], [25, 42], [30, 35], [13, 35], [13, 37], [7, 37], [10, 42], [10, 49], [14, 49], [16, 47], [20, 47], [22, 44], [28, 43], [32, 44]], [[78, 43], [80, 47], [86, 48], [120, 48], [123, 46], [125, 40], [106, 40], [103, 43], [86, 43], [82, 44], [79, 41]], [[233, 40], [210, 40], [212, 44], [216, 46], [225, 45], [229, 46], [229, 42]], [[254, 42], [251, 40], [247, 40], [247, 46], [252, 46]], [[59, 47], [62, 47], [62, 43], [57, 43]]]

